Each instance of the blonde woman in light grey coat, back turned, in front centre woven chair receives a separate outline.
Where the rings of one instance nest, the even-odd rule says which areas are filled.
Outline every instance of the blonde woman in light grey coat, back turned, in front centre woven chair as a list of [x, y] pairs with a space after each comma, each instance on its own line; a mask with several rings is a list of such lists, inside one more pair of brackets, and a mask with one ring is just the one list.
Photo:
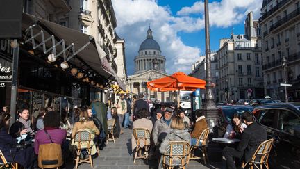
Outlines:
[[[171, 128], [173, 130], [169, 134], [167, 134], [163, 142], [160, 144], [159, 150], [161, 154], [163, 154], [165, 150], [167, 150], [170, 141], [185, 141], [190, 144], [191, 136], [188, 133], [188, 131], [184, 130], [185, 124], [183, 123], [182, 118], [178, 116], [174, 117], [171, 122]], [[163, 156], [161, 158], [162, 159], [160, 159], [159, 168], [163, 168]], [[174, 160], [173, 163], [181, 163], [181, 162]]]

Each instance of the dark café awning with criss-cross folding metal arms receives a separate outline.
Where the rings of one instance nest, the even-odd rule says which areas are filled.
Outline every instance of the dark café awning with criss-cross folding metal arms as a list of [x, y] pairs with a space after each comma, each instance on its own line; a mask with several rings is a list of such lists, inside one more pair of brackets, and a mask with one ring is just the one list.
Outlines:
[[[101, 74], [102, 77], [115, 81], [122, 90], [126, 90], [123, 81], [117, 77], [106, 58], [106, 52], [91, 35], [49, 22], [47, 20], [23, 13], [22, 31], [25, 42], [31, 43], [33, 49], [42, 47], [44, 54], [55, 54], [64, 61], [75, 65], [87, 64], [88, 69]], [[73, 59], [76, 56], [78, 60]]]

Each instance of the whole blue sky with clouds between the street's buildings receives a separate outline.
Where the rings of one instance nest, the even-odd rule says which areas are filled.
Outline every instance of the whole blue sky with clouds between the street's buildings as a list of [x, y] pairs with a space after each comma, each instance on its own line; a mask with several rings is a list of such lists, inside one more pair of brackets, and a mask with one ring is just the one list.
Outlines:
[[[203, 0], [112, 0], [116, 32], [125, 40], [126, 68], [134, 73], [135, 56], [146, 39], [149, 24], [153, 39], [166, 58], [167, 74], [190, 73], [192, 64], [205, 55]], [[253, 12], [260, 17], [263, 0], [209, 0], [210, 50], [219, 39], [244, 34], [244, 19]]]

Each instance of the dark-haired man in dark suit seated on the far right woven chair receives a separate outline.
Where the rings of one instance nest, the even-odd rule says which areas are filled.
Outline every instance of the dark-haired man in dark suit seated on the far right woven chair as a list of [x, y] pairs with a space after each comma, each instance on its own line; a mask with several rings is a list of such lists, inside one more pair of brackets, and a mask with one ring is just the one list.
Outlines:
[[241, 159], [244, 156], [244, 160], [249, 161], [260, 143], [267, 140], [267, 131], [253, 121], [252, 113], [244, 112], [242, 120], [244, 120], [247, 128], [243, 131], [238, 147], [225, 147], [223, 150], [223, 156], [226, 159], [226, 168], [228, 169], [236, 168], [234, 158]]

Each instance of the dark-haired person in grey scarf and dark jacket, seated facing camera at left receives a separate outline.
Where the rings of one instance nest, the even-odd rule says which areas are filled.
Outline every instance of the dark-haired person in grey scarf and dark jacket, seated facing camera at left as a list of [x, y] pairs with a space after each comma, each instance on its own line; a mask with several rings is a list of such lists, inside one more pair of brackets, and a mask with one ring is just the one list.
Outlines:
[[10, 135], [13, 138], [17, 138], [22, 134], [34, 135], [33, 129], [31, 129], [31, 121], [29, 120], [29, 109], [23, 108], [19, 112], [19, 120], [10, 127]]

